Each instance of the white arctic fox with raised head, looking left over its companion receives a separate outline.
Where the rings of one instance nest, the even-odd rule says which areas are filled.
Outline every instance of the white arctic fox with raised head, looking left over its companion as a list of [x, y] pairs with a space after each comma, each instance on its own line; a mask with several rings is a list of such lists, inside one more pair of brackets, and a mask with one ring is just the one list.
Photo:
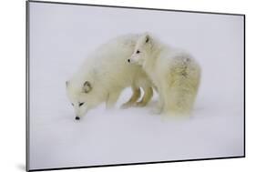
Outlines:
[[142, 66], [157, 87], [158, 113], [190, 112], [200, 85], [200, 66], [191, 56], [143, 34], [128, 62]]

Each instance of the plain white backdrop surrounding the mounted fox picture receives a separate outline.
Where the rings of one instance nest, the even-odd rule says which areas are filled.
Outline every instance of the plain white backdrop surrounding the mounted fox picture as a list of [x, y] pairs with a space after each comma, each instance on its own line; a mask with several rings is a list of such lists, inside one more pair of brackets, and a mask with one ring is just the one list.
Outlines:
[[[78, 2], [78, 1], [76, 1]], [[85, 3], [86, 1], [80, 1]], [[163, 1], [164, 2], [164, 1]], [[239, 2], [223, 2], [217, 3], [217, 1], [197, 1], [193, 3], [185, 4], [186, 1], [175, 1], [169, 2], [168, 4], [161, 4], [158, 1], [157, 5], [148, 4], [143, 1], [138, 4], [129, 2], [129, 4], [121, 4], [118, 2], [111, 1], [104, 4], [108, 5], [133, 5], [133, 6], [148, 6], [148, 7], [159, 7], [159, 8], [172, 8], [172, 9], [187, 9], [187, 10], [199, 10], [199, 11], [215, 11], [215, 12], [230, 12], [230, 13], [244, 13], [247, 15], [247, 36], [248, 38], [248, 55], [247, 55], [247, 71], [252, 70], [253, 67], [253, 41], [255, 35], [255, 25], [253, 22], [253, 5], [245, 3], [245, 1]], [[87, 1], [89, 3], [89, 1]], [[100, 4], [98, 1], [94, 1], [95, 4]], [[113, 3], [113, 4], [111, 4]], [[1, 9], [1, 21], [6, 23], [1, 25], [1, 53], [4, 53], [1, 57], [1, 91], [4, 96], [1, 97], [1, 105], [3, 112], [1, 114], [1, 167], [2, 170], [22, 170], [25, 165], [25, 3], [9, 4], [7, 6], [1, 5], [4, 9]], [[4, 14], [2, 14], [4, 13]], [[8, 16], [8, 17], [6, 17]], [[250, 45], [251, 44], [251, 45]], [[250, 58], [251, 56], [251, 58]], [[252, 71], [250, 75], [253, 76]], [[8, 75], [5, 75], [8, 74]], [[255, 87], [255, 83], [248, 80], [247, 91], [251, 91], [251, 88]], [[3, 87], [2, 87], [3, 86]], [[253, 93], [250, 92], [248, 98], [251, 100]], [[108, 168], [97, 168], [87, 169], [88, 171], [113, 171], [113, 170], [176, 170], [176, 171], [216, 171], [225, 170], [232, 168], [233, 170], [241, 171], [246, 167], [253, 165], [253, 154], [255, 153], [255, 140], [253, 138], [253, 121], [254, 116], [251, 111], [253, 108], [253, 102], [248, 103], [247, 113], [247, 157], [245, 159], [229, 159], [229, 160], [214, 160], [214, 161], [203, 161], [203, 162], [185, 162], [185, 163], [172, 163], [162, 165], [147, 165], [137, 167], [108, 167]], [[250, 120], [248, 120], [248, 118]], [[3, 132], [3, 133], [2, 133]], [[4, 136], [4, 137], [3, 137]], [[83, 169], [80, 169], [81, 171]], [[76, 171], [76, 170], [74, 170]], [[79, 170], [77, 170], [79, 171]]]

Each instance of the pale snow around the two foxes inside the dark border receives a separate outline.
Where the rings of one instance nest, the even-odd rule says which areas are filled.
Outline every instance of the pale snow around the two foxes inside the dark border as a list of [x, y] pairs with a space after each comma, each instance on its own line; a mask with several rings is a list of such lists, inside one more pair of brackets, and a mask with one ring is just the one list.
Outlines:
[[[78, 167], [243, 155], [241, 16], [30, 3], [30, 168]], [[152, 115], [104, 105], [75, 121], [65, 81], [98, 45], [151, 32], [200, 62], [193, 115]]]

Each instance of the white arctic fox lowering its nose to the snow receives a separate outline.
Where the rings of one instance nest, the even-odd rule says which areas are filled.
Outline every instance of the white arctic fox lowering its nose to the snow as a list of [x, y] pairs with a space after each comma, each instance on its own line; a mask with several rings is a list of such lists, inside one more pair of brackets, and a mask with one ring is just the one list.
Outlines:
[[[123, 35], [99, 46], [67, 81], [67, 96], [75, 108], [76, 119], [103, 102], [107, 108], [115, 106], [121, 91], [128, 86], [133, 95], [123, 107], [146, 106], [153, 94], [151, 82], [141, 66], [127, 63], [137, 40], [138, 35]], [[137, 102], [139, 87], [144, 96]]]

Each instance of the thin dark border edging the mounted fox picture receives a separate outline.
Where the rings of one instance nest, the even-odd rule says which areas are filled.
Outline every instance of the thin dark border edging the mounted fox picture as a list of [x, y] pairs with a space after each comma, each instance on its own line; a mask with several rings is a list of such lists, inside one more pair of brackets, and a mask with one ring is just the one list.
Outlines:
[[[97, 6], [97, 7], [111, 7], [111, 8], [126, 8], [126, 9], [140, 9], [140, 10], [155, 10], [155, 11], [169, 11], [169, 12], [182, 12], [182, 13], [193, 13], [193, 14], [210, 14], [210, 15], [240, 15], [243, 17], [243, 155], [237, 157], [209, 157], [209, 158], [195, 158], [195, 159], [181, 159], [181, 160], [165, 160], [165, 161], [151, 161], [151, 162], [138, 162], [138, 163], [123, 163], [123, 164], [109, 164], [109, 165], [97, 165], [97, 166], [83, 166], [83, 167], [53, 167], [53, 168], [29, 168], [29, 147], [30, 147], [30, 3], [39, 4], [55, 4], [55, 5], [86, 5], [86, 6]], [[147, 7], [136, 7], [136, 6], [118, 6], [118, 5], [94, 5], [94, 4], [79, 4], [79, 3], [64, 3], [64, 2], [52, 2], [52, 1], [37, 1], [37, 0], [26, 0], [26, 171], [48, 171], [48, 170], [62, 170], [62, 169], [77, 169], [77, 168], [89, 168], [89, 167], [117, 167], [117, 166], [132, 166], [132, 165], [147, 165], [147, 164], [163, 164], [172, 162], [189, 162], [189, 161], [202, 161], [202, 160], [218, 160], [218, 159], [230, 159], [230, 158], [242, 158], [246, 157], [246, 15], [244, 14], [232, 14], [232, 13], [217, 13], [217, 12], [202, 12], [202, 11], [189, 11], [189, 10], [176, 10], [176, 9], [161, 9], [161, 8], [147, 8]]]

